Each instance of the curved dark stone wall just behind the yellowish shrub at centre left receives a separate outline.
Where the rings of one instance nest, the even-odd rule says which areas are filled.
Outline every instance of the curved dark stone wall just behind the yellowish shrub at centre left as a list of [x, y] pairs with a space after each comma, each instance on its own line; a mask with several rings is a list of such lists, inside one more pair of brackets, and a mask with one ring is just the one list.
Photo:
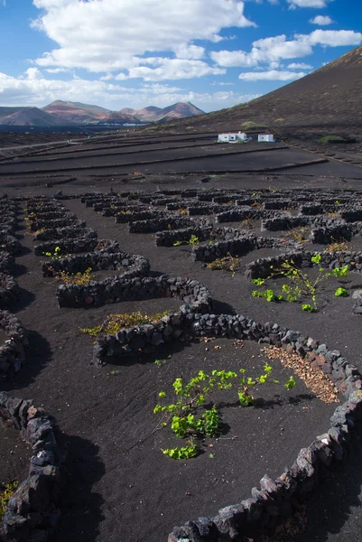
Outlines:
[[89, 285], [60, 285], [56, 295], [60, 307], [92, 307], [158, 297], [181, 299], [192, 311], [208, 312], [211, 295], [205, 285], [196, 280], [162, 275], [122, 279], [109, 276]]

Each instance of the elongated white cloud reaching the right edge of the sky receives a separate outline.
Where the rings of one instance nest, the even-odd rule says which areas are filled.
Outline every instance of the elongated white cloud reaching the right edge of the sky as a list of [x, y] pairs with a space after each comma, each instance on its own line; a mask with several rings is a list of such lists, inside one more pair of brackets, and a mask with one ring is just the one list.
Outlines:
[[250, 52], [211, 51], [210, 57], [219, 66], [254, 68], [262, 63], [275, 67], [275, 62], [283, 59], [296, 59], [310, 55], [313, 47], [338, 47], [339, 45], [359, 45], [362, 33], [352, 30], [315, 30], [310, 34], [294, 34], [287, 40], [285, 34], [263, 38], [253, 42]]

